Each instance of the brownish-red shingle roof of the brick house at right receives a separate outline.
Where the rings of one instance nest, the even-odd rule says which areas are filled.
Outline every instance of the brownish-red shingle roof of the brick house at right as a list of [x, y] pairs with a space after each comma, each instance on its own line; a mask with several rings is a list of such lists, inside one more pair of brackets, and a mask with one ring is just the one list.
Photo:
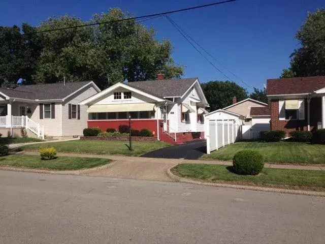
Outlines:
[[268, 96], [307, 95], [323, 87], [325, 87], [325, 76], [268, 79], [267, 94]]

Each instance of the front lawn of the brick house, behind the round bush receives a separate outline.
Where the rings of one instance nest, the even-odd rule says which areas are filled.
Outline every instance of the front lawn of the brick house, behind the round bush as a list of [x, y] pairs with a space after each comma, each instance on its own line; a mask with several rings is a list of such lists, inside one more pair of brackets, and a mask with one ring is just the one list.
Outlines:
[[236, 142], [204, 155], [207, 160], [233, 160], [240, 150], [255, 150], [264, 156], [265, 162], [275, 164], [325, 164], [325, 145], [303, 142]]

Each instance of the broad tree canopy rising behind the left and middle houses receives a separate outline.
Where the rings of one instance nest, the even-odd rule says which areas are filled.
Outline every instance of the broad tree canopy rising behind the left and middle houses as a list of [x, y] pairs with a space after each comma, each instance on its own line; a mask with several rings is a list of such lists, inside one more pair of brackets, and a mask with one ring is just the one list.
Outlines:
[[180, 78], [168, 40], [157, 41], [154, 29], [136, 20], [111, 22], [61, 31], [30, 34], [54, 28], [127, 18], [120, 9], [95, 14], [89, 21], [77, 17], [49, 18], [33, 28], [0, 27], [0, 82], [53, 83], [93, 80], [99, 87], [124, 81]]

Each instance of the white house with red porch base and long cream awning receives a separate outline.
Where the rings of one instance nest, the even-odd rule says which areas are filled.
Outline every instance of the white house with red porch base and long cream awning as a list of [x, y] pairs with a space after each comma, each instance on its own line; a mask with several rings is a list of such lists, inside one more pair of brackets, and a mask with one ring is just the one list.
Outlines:
[[88, 127], [150, 130], [158, 140], [182, 143], [204, 137], [208, 102], [198, 78], [117, 83], [81, 104], [88, 106]]

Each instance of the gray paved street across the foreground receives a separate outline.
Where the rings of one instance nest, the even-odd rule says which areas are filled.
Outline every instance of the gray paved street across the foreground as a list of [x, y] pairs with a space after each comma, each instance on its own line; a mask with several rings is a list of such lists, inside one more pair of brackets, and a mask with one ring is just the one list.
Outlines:
[[0, 171], [0, 243], [324, 243], [325, 198]]

